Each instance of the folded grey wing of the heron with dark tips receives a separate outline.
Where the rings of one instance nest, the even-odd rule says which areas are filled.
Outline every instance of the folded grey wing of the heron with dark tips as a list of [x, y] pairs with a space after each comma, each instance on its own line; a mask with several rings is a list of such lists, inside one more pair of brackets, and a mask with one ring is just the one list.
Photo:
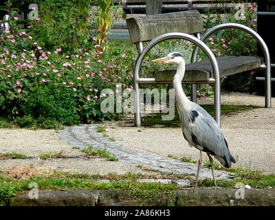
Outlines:
[[190, 111], [189, 129], [193, 135], [193, 140], [197, 141], [195, 144], [203, 146], [203, 151], [222, 157], [230, 166], [232, 156], [217, 122], [198, 104], [194, 103], [192, 109], [194, 110]]

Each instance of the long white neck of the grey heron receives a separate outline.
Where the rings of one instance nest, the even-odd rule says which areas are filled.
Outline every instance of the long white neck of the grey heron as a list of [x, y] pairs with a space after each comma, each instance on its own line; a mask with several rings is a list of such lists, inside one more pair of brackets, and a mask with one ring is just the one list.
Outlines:
[[175, 98], [177, 100], [178, 105], [183, 105], [184, 107], [187, 107], [187, 102], [189, 102], [188, 98], [184, 94], [184, 91], [182, 90], [181, 81], [184, 78], [185, 73], [185, 63], [179, 63], [177, 65], [177, 73], [175, 74], [175, 77], [173, 78], [173, 86], [175, 89]]

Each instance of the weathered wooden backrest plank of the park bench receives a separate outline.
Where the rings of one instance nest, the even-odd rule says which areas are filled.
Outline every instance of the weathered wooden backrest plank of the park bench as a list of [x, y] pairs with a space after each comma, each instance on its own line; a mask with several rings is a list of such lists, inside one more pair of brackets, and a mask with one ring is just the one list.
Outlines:
[[126, 19], [126, 23], [132, 43], [151, 41], [169, 32], [196, 34], [203, 31], [202, 17], [197, 10], [132, 17]]

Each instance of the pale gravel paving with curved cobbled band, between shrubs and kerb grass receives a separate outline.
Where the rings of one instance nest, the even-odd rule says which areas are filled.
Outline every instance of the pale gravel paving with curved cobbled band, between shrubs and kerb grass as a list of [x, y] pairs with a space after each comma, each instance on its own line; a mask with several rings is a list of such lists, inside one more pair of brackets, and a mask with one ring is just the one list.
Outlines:
[[[212, 99], [209, 100], [212, 101]], [[201, 104], [204, 102], [208, 104], [208, 100], [199, 101]], [[221, 102], [263, 106], [264, 98], [248, 94], [223, 94]], [[274, 102], [275, 98], [272, 98], [272, 103]], [[58, 133], [54, 130], [0, 129], [0, 153], [16, 152], [28, 157], [27, 159], [2, 159], [0, 168], [6, 170], [15, 167], [20, 170], [33, 167], [91, 175], [107, 175], [108, 173], [124, 175], [129, 171], [146, 173], [154, 177], [158, 175], [153, 171], [140, 168], [138, 166], [140, 165], [160, 170], [166, 174], [185, 174], [195, 178], [197, 164], [180, 162], [179, 158], [192, 157], [196, 160], [199, 152], [188, 146], [182, 137], [180, 128], [142, 127], [137, 129], [133, 126], [133, 122], [113, 123], [104, 122], [101, 125], [109, 128], [107, 135], [114, 137], [115, 142], [111, 142], [108, 137], [103, 137], [102, 133], [96, 131], [98, 124], [71, 126]], [[254, 109], [235, 115], [223, 115], [222, 129], [228, 138], [230, 151], [237, 159], [236, 166], [251, 165], [251, 168], [275, 173], [274, 107]], [[96, 149], [106, 148], [119, 161], [111, 162], [107, 159], [91, 158], [74, 148], [78, 146], [83, 149], [90, 144]], [[39, 159], [41, 154], [60, 152], [63, 152], [64, 158]], [[168, 155], [177, 159], [172, 159]], [[216, 170], [215, 173], [220, 176], [217, 179], [225, 178], [227, 175], [221, 170]], [[212, 179], [208, 168], [201, 168], [200, 174], [201, 179], [206, 177]]]

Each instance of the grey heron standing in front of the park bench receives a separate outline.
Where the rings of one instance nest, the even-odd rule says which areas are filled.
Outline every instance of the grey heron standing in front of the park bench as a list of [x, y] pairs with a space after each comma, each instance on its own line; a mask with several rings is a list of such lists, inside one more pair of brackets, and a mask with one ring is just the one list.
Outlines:
[[184, 138], [191, 146], [199, 149], [199, 165], [197, 169], [197, 178], [195, 188], [199, 179], [199, 170], [202, 162], [202, 151], [206, 152], [209, 157], [214, 187], [217, 188], [214, 177], [213, 159], [214, 156], [225, 167], [230, 167], [231, 162], [236, 163], [232, 157], [228, 142], [219, 128], [217, 122], [206, 110], [195, 102], [188, 100], [181, 87], [181, 80], [184, 78], [185, 61], [184, 57], [178, 52], [172, 52], [165, 57], [157, 58], [153, 62], [173, 63], [177, 65], [177, 72], [173, 78], [173, 87], [175, 89], [175, 100], [181, 122], [181, 130]]

